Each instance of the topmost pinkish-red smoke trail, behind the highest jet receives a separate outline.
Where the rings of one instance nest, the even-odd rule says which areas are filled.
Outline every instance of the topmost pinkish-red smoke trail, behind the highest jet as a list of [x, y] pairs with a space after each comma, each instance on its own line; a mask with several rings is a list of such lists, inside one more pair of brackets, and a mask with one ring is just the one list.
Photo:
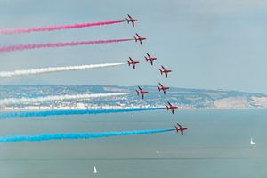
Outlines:
[[71, 28], [89, 28], [94, 26], [102, 26], [102, 25], [111, 25], [116, 23], [122, 23], [125, 20], [117, 20], [117, 21], [101, 21], [96, 23], [79, 23], [73, 25], [62, 25], [62, 26], [53, 26], [53, 27], [38, 27], [38, 28], [18, 28], [18, 29], [0, 29], [1, 34], [14, 34], [14, 33], [29, 33], [36, 31], [53, 31], [59, 29], [71, 29]]

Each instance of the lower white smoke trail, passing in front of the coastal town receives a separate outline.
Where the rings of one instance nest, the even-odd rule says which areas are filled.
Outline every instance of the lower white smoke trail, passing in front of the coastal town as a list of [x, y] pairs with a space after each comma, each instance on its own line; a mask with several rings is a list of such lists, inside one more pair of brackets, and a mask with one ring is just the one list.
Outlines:
[[66, 94], [66, 95], [44, 96], [38, 98], [7, 98], [4, 100], [0, 100], [0, 106], [9, 104], [40, 103], [45, 101], [89, 100], [93, 98], [114, 97], [127, 94], [131, 93], [95, 93], [95, 94], [76, 94], [76, 95]]

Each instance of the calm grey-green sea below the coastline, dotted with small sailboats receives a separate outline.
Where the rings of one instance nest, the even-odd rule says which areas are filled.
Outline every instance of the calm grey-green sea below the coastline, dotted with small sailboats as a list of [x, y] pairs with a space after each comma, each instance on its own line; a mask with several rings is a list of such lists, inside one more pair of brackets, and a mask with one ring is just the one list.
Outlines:
[[189, 127], [183, 137], [170, 132], [2, 143], [1, 178], [267, 177], [267, 110], [183, 110], [174, 115], [159, 110], [0, 122], [1, 135], [161, 129], [176, 122]]

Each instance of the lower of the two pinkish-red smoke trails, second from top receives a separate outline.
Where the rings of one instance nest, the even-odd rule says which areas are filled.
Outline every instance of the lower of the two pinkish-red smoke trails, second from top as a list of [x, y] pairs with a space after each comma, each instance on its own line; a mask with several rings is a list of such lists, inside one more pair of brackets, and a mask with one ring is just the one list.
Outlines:
[[134, 39], [109, 39], [109, 40], [98, 40], [98, 41], [82, 41], [82, 42], [64, 42], [55, 44], [18, 44], [0, 47], [0, 53], [7, 53], [19, 50], [31, 50], [36, 48], [53, 48], [53, 47], [65, 47], [65, 46], [76, 46], [76, 45], [93, 45], [93, 44], [110, 44], [118, 42], [132, 41]]

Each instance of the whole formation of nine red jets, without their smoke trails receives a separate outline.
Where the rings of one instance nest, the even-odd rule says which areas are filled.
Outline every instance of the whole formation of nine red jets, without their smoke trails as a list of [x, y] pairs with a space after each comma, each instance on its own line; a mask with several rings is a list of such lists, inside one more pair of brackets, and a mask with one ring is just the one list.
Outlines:
[[[132, 23], [133, 27], [134, 27], [134, 22], [138, 21], [137, 19], [134, 19], [129, 14], [128, 14], [128, 17], [126, 18], [126, 20], [127, 20], [128, 24]], [[142, 45], [143, 40], [147, 39], [146, 37], [139, 36], [137, 33], [135, 35], [136, 35], [136, 36], [134, 36], [135, 42], [140, 42], [141, 45]], [[146, 62], [150, 61], [151, 66], [153, 66], [153, 62], [157, 60], [157, 57], [150, 56], [149, 53], [146, 53], [146, 54], [147, 54], [147, 56], [145, 56]], [[129, 67], [131, 65], [133, 65], [133, 68], [135, 69], [136, 64], [139, 64], [140, 61], [134, 61], [131, 57], [129, 57], [129, 61], [127, 61], [127, 63], [129, 65]], [[161, 66], [161, 69], [159, 69], [159, 71], [160, 71], [160, 74], [165, 75], [166, 78], [168, 77], [168, 73], [172, 72], [171, 69], [166, 69], [164, 66]], [[170, 87], [164, 86], [161, 83], [158, 83], [158, 84], [159, 84], [159, 85], [157, 85], [158, 92], [163, 91], [163, 93], [166, 95], [166, 90], [169, 90]], [[136, 93], [137, 93], [137, 95], [141, 95], [142, 99], [144, 99], [145, 94], [149, 93], [149, 92], [142, 90], [142, 88], [140, 86], [138, 86]], [[174, 109], [178, 109], [178, 107], [171, 104], [168, 101], [167, 105], [166, 105], [166, 109], [170, 110], [174, 114]], [[177, 126], [174, 126], [174, 127], [176, 129], [176, 132], [178, 133], [180, 131], [182, 135], [183, 135], [183, 131], [187, 129], [185, 127], [182, 127], [182, 125], [180, 125], [179, 123], [177, 123]]]

